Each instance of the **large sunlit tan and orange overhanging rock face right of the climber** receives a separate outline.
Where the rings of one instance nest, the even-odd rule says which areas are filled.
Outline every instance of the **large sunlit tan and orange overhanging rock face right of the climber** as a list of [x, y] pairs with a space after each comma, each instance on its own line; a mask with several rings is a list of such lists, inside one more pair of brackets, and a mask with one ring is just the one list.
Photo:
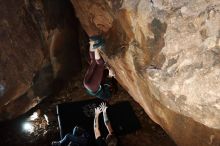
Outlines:
[[219, 0], [72, 0], [104, 59], [181, 146], [220, 145]]

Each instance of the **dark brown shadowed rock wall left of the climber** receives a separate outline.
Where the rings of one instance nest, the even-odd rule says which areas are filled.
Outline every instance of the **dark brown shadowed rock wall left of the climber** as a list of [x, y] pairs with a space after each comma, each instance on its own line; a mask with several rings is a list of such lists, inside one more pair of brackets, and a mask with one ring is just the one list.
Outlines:
[[0, 2], [0, 121], [27, 112], [53, 92], [55, 80], [60, 83], [81, 69], [72, 4], [52, 4]]

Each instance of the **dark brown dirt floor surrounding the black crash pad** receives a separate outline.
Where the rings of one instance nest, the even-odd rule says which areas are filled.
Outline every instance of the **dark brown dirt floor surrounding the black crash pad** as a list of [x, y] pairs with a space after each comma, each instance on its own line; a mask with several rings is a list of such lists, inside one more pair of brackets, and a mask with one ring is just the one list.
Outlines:
[[[82, 78], [82, 75], [79, 75], [78, 78]], [[55, 106], [58, 103], [80, 101], [91, 98], [93, 97], [86, 95], [83, 85], [79, 80], [71, 80], [59, 93], [56, 93], [56, 96], [46, 98], [27, 114], [13, 121], [0, 123], [0, 145], [51, 145], [51, 141], [59, 139], [59, 128]], [[142, 126], [142, 129], [135, 133], [119, 137], [124, 146], [176, 146], [163, 129], [154, 123], [139, 104], [137, 104], [120, 86], [119, 91], [110, 100], [110, 104], [118, 101], [130, 101]], [[28, 120], [33, 112], [37, 112], [39, 117], [33, 121], [29, 120], [34, 124], [34, 132], [28, 133], [22, 129], [22, 124]], [[47, 123], [44, 115], [48, 117], [49, 123]]]

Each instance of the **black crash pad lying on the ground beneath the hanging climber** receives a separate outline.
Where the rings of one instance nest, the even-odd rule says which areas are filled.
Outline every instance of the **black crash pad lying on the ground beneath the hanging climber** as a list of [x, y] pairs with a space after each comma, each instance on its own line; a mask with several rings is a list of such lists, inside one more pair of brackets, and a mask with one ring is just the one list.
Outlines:
[[[100, 99], [92, 99], [57, 105], [61, 138], [63, 138], [65, 134], [72, 132], [73, 127], [76, 125], [87, 129], [92, 137], [94, 137], [94, 108], [99, 106], [101, 102]], [[128, 101], [109, 106], [107, 113], [116, 135], [131, 133], [140, 128], [140, 123]], [[106, 136], [107, 129], [104, 126], [102, 114], [100, 115], [99, 123], [102, 135]]]

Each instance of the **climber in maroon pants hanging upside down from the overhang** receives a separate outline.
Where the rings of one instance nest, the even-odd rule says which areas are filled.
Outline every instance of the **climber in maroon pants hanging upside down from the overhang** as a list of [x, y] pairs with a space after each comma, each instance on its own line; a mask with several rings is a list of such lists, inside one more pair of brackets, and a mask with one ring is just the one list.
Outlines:
[[91, 36], [89, 38], [89, 67], [84, 77], [84, 87], [89, 95], [108, 100], [112, 96], [114, 73], [106, 69], [106, 64], [99, 54], [99, 49], [104, 49], [102, 36]]

